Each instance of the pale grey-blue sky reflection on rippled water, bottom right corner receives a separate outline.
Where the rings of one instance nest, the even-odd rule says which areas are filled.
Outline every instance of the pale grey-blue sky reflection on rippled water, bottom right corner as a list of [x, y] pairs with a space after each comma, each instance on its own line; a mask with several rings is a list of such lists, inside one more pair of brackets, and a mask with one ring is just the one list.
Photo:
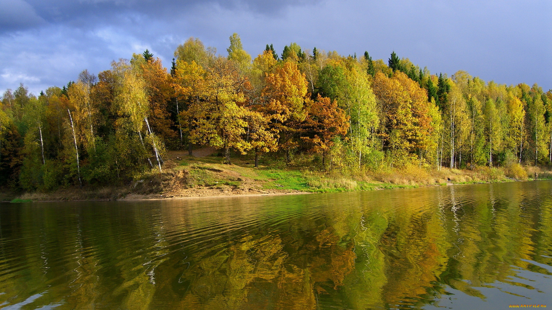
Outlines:
[[[544, 268], [551, 272], [552, 267], [537, 263], [532, 260], [525, 260], [531, 265]], [[506, 282], [486, 283], [485, 287], [468, 286], [484, 298], [470, 296], [450, 286], [445, 287], [445, 291], [451, 295], [442, 295], [435, 306], [427, 304], [423, 306], [426, 310], [437, 310], [443, 308], [453, 309], [488, 309], [502, 310], [508, 308], [510, 304], [548, 304], [552, 303], [550, 292], [552, 292], [552, 275], [544, 275], [539, 272], [521, 269], [512, 266], [516, 270], [515, 277], [508, 277]], [[505, 293], [508, 295], [505, 296]]]

